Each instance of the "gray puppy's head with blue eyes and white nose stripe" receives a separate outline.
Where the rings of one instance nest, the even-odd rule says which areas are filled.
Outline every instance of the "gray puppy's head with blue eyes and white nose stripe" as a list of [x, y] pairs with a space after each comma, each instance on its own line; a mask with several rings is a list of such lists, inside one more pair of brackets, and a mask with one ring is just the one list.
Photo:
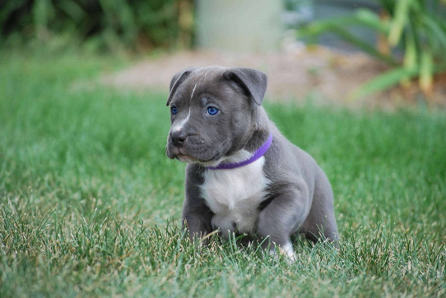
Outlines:
[[256, 126], [267, 78], [250, 68], [188, 68], [170, 82], [169, 158], [216, 165], [243, 148]]

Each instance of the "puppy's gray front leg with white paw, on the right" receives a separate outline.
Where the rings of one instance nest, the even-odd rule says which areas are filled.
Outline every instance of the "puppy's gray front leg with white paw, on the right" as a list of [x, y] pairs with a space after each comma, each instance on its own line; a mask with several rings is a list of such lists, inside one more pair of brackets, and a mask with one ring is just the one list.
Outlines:
[[309, 212], [308, 188], [303, 182], [276, 187], [280, 188], [279, 194], [274, 196], [273, 190], [271, 202], [260, 211], [257, 232], [262, 238], [270, 237], [270, 254], [278, 246], [280, 253], [296, 260], [291, 235], [296, 233]]

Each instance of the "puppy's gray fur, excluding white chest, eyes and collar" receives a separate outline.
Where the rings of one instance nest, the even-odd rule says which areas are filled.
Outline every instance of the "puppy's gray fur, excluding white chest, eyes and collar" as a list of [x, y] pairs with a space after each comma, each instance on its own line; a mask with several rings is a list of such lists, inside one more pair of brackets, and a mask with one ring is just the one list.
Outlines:
[[[188, 162], [184, 224], [191, 237], [202, 237], [212, 227], [214, 212], [203, 198], [206, 166], [225, 162], [240, 150], [254, 152], [273, 133], [264, 155], [263, 175], [270, 183], [258, 206], [254, 237], [270, 237], [285, 246], [291, 235], [304, 233], [311, 241], [339, 239], [330, 183], [316, 161], [289, 142], [261, 107], [267, 78], [250, 68], [188, 68], [174, 75], [167, 105], [172, 128], [167, 139], [169, 158]], [[207, 107], [219, 112], [211, 116]], [[231, 171], [231, 170], [226, 170]], [[237, 222], [234, 222], [236, 232]]]

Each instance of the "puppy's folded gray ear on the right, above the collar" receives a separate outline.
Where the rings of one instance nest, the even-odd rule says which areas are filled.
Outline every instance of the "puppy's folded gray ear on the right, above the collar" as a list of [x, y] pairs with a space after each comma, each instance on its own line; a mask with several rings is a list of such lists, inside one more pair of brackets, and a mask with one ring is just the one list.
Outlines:
[[235, 82], [247, 96], [252, 97], [258, 106], [262, 104], [268, 84], [266, 74], [252, 68], [236, 67], [229, 69], [224, 74], [224, 78]]

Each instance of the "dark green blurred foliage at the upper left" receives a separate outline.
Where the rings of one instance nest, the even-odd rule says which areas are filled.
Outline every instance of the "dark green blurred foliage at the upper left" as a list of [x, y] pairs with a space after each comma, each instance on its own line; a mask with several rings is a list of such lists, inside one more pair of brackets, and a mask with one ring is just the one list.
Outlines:
[[192, 0], [10, 0], [0, 4], [2, 44], [48, 43], [59, 38], [113, 51], [116, 47], [187, 47], [191, 34]]

